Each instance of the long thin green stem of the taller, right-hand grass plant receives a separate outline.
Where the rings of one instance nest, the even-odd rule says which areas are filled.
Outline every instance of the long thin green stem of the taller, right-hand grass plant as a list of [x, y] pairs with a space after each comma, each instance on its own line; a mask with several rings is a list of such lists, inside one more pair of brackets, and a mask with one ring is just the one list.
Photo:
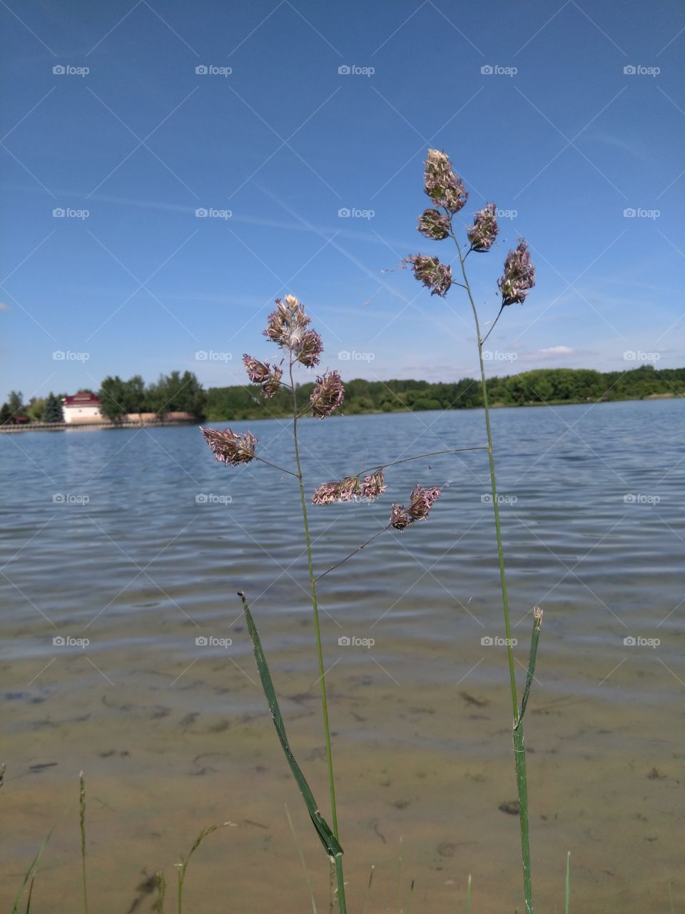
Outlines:
[[[511, 648], [511, 622], [509, 615], [509, 596], [507, 594], [507, 578], [504, 568], [504, 549], [501, 540], [500, 524], [500, 505], [497, 494], [497, 477], [495, 474], [495, 458], [492, 448], [492, 431], [490, 430], [490, 406], [488, 403], [488, 384], [485, 376], [485, 364], [483, 362], [483, 341], [480, 338], [480, 324], [478, 319], [478, 309], [473, 299], [473, 293], [469, 284], [469, 277], [466, 274], [466, 257], [461, 252], [458, 239], [452, 233], [452, 239], [457, 245], [459, 264], [461, 266], [461, 275], [469, 294], [469, 302], [473, 312], [473, 320], [476, 324], [476, 338], [478, 340], [478, 355], [480, 362], [480, 384], [483, 391], [483, 408], [485, 409], [485, 428], [488, 434], [488, 461], [490, 463], [490, 488], [492, 490], [492, 507], [495, 513], [495, 531], [497, 534], [497, 555], [500, 563], [500, 583], [502, 607], [504, 610], [504, 629], [507, 638], [507, 658], [509, 661], [509, 679], [511, 686], [511, 706], [513, 708], [513, 749], [514, 763], [516, 768], [516, 787], [519, 794], [519, 819], [521, 824], [521, 852], [523, 865], [523, 893], [526, 903], [526, 914], [532, 914], [532, 883], [531, 883], [531, 847], [529, 838], [528, 823], [528, 780], [526, 776], [526, 757], [525, 745], [523, 742], [523, 728], [519, 720], [519, 707], [516, 697], [516, 675], [514, 671], [513, 650]], [[468, 252], [467, 252], [468, 254]], [[498, 315], [499, 316], [499, 315]]]

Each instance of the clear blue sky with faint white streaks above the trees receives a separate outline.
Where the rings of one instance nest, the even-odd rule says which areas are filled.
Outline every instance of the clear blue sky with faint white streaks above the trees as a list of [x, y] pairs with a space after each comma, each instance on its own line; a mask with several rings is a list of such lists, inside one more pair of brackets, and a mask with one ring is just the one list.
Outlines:
[[490, 337], [491, 374], [685, 365], [680, 4], [10, 0], [0, 17], [0, 397], [174, 368], [243, 383], [244, 352], [275, 355], [260, 334], [286, 292], [343, 377], [473, 376], [463, 291], [396, 269], [452, 258], [416, 233], [429, 146], [469, 188], [458, 221], [504, 211], [499, 247], [469, 257], [483, 322], [507, 250], [531, 244], [537, 286]]

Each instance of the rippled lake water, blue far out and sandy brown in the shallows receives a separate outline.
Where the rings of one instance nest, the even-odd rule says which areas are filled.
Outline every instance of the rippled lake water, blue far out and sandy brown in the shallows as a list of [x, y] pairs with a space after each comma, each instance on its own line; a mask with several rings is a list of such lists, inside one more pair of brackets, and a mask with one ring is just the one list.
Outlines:
[[[545, 610], [527, 728], [543, 910], [561, 904], [567, 849], [586, 911], [668, 909], [669, 875], [683, 897], [684, 418], [677, 400], [493, 413], [521, 663], [530, 610]], [[288, 424], [233, 427], [292, 466]], [[307, 420], [302, 441], [312, 490], [377, 462], [479, 445], [483, 415]], [[325, 808], [295, 481], [257, 462], [216, 463], [194, 428], [36, 432], [0, 445], [3, 801], [14, 833], [3, 898], [77, 797], [83, 768], [103, 914], [150, 909], [146, 877], [164, 868], [171, 881], [200, 828], [224, 820], [236, 828], [194, 857], [190, 909], [224, 911], [232, 898], [267, 912], [275, 897], [307, 909], [284, 802], [324, 908], [326, 867], [236, 596], [248, 594]], [[427, 523], [384, 533], [321, 582], [351, 907], [363, 907], [374, 863], [369, 909], [397, 909], [402, 838], [416, 910], [456, 905], [469, 872], [475, 909], [513, 909], [518, 820], [499, 809], [515, 796], [506, 658], [483, 643], [503, 636], [486, 457], [441, 455], [386, 475], [374, 505], [310, 515], [321, 572], [384, 526], [415, 482], [446, 486]], [[75, 816], [52, 839], [37, 911], [78, 903]]]

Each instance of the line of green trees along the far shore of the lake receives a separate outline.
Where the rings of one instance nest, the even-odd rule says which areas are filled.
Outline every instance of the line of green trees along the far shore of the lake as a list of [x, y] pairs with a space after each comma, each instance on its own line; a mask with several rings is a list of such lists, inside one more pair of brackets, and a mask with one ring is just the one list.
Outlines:
[[[313, 382], [298, 387], [298, 397], [309, 399]], [[79, 391], [80, 392], [80, 391]], [[249, 420], [290, 416], [290, 396], [280, 390], [265, 400], [258, 386], [245, 384], [226, 388], [202, 387], [195, 375], [173, 371], [146, 385], [140, 375], [129, 380], [106, 377], [97, 392], [100, 411], [107, 419], [120, 421], [128, 413], [187, 412], [198, 420]], [[685, 368], [657, 370], [648, 365], [631, 371], [600, 372], [588, 368], [538, 368], [518, 375], [490, 377], [488, 399], [492, 406], [533, 406], [550, 403], [585, 403], [685, 396]], [[475, 409], [482, 406], [479, 384], [472, 378], [453, 383], [415, 380], [345, 381], [342, 411], [347, 415], [423, 409]], [[0, 424], [17, 416], [33, 421], [57, 422], [61, 395], [32, 399], [23, 405], [21, 394], [12, 391], [0, 409]], [[50, 416], [52, 418], [46, 418]], [[59, 418], [58, 418], [59, 417]]]

